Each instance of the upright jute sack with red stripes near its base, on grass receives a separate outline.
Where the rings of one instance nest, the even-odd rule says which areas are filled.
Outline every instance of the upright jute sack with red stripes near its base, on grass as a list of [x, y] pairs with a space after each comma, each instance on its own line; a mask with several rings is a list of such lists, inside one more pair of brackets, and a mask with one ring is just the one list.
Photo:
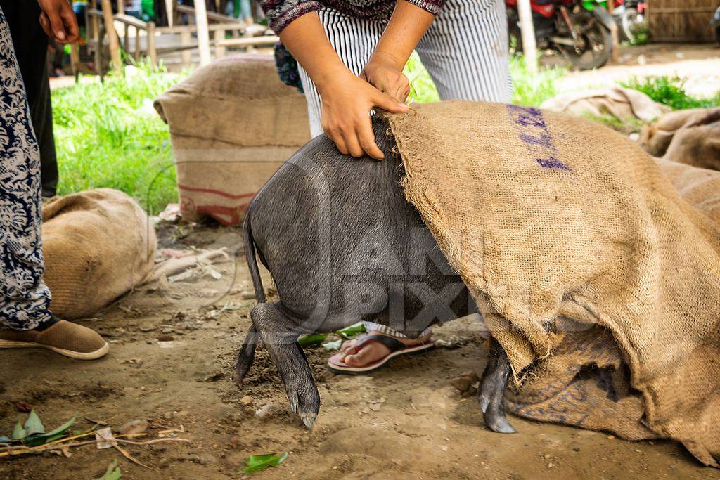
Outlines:
[[305, 96], [272, 55], [215, 60], [155, 101], [170, 126], [183, 217], [239, 223], [252, 196], [310, 140]]

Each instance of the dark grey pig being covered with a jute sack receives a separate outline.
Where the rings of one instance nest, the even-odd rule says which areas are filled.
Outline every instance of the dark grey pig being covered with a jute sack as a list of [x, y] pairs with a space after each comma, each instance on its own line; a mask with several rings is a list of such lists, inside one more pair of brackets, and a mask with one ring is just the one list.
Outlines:
[[[405, 200], [404, 168], [387, 121], [372, 122], [384, 161], [342, 155], [325, 135], [315, 137], [258, 191], [243, 224], [258, 304], [234, 381], [240, 386], [261, 340], [292, 411], [308, 428], [320, 411], [320, 394], [297, 344], [300, 335], [368, 320], [417, 338], [430, 325], [477, 312]], [[279, 302], [266, 302], [256, 255], [275, 281]], [[509, 373], [505, 351], [491, 339], [478, 396], [486, 425], [500, 433], [515, 432], [505, 417]]]

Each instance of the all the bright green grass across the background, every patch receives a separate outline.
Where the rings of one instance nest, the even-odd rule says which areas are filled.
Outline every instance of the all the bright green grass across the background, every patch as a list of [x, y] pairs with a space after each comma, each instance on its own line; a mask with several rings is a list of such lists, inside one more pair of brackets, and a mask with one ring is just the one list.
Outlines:
[[[523, 59], [510, 61], [513, 103], [537, 107], [561, 93], [558, 81], [564, 68], [544, 68], [528, 73]], [[405, 68], [410, 99], [438, 101], [438, 92], [417, 55]], [[150, 213], [177, 201], [176, 177], [168, 127], [158, 117], [152, 101], [179, 81], [164, 71], [140, 65], [135, 76], [109, 76], [104, 83], [81, 83], [53, 91], [55, 143], [60, 184], [58, 194], [110, 187], [138, 199]], [[631, 78], [623, 83], [672, 109], [714, 107], [714, 99], [690, 96], [680, 78]], [[612, 120], [597, 119], [610, 124]], [[627, 126], [611, 124], [614, 128]], [[636, 125], [631, 125], [636, 129]]]

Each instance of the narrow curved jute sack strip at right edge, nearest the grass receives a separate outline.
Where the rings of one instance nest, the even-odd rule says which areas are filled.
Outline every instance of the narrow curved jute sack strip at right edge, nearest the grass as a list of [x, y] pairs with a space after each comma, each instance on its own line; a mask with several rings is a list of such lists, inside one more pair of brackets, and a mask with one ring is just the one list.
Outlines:
[[718, 120], [720, 120], [720, 108], [670, 112], [643, 127], [640, 134], [640, 145], [650, 155], [662, 157], [670, 146], [672, 137], [681, 128], [710, 124]]

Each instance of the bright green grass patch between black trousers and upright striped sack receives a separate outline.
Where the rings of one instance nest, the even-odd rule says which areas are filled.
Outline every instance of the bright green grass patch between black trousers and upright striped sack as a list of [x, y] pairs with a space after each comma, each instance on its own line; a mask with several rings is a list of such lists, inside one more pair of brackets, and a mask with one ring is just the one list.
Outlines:
[[177, 81], [140, 65], [131, 78], [54, 90], [58, 194], [109, 187], [132, 195], [148, 212], [177, 201], [168, 126], [152, 106]]

